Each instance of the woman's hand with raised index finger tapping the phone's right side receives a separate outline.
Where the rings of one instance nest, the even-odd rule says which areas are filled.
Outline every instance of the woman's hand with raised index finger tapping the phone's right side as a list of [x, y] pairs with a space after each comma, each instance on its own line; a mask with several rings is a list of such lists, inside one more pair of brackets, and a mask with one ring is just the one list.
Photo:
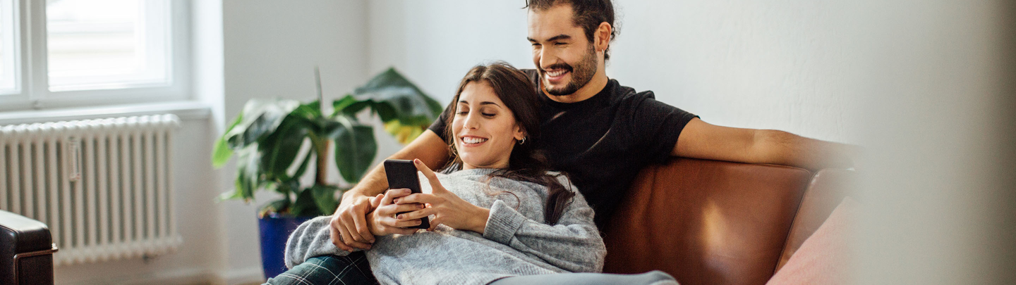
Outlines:
[[451, 193], [438, 181], [437, 175], [430, 167], [427, 167], [420, 159], [414, 159], [412, 163], [417, 169], [424, 172], [427, 181], [431, 183], [431, 194], [411, 194], [395, 199], [395, 205], [416, 205], [415, 203], [428, 204], [430, 207], [409, 213], [398, 215], [399, 221], [414, 221], [426, 216], [434, 215], [431, 220], [431, 228], [434, 230], [438, 224], [444, 224], [454, 229], [471, 230], [484, 233], [487, 227], [487, 218], [491, 215], [491, 210], [469, 204], [454, 193]]

